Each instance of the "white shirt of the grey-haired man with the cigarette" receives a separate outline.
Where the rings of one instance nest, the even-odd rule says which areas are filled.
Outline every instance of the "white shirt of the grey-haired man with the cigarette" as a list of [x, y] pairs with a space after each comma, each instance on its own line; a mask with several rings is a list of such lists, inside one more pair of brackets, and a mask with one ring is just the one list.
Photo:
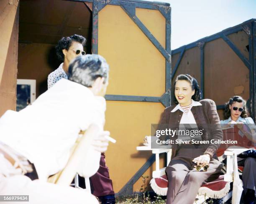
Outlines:
[[61, 79], [20, 112], [0, 118], [0, 142], [26, 157], [39, 179], [59, 172], [80, 130], [96, 123], [103, 129], [106, 102], [83, 85]]

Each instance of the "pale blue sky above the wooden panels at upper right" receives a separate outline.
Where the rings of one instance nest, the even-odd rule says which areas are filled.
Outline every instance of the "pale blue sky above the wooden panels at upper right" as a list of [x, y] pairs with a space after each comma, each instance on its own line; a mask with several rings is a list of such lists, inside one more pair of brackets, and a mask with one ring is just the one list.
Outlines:
[[172, 7], [172, 50], [256, 18], [256, 0], [158, 1]]

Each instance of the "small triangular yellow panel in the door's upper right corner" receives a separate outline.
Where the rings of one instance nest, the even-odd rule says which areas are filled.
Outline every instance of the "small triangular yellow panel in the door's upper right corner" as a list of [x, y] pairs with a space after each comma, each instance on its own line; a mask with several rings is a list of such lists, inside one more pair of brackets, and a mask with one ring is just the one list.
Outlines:
[[[159, 10], [136, 8], [136, 16], [165, 48], [165, 18]], [[157, 22], [157, 23], [156, 23]]]

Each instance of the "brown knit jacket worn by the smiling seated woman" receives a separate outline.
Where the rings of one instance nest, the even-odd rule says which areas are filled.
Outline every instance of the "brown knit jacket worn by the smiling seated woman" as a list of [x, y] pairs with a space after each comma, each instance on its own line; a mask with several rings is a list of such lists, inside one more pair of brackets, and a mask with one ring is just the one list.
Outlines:
[[[200, 100], [199, 102], [202, 104], [202, 106], [193, 106], [191, 109], [191, 112], [195, 117], [197, 126], [204, 126], [205, 124], [208, 124], [210, 127], [206, 128], [203, 132], [202, 140], [223, 140], [223, 132], [220, 126], [220, 118], [217, 113], [215, 102], [210, 99]], [[174, 107], [176, 107], [176, 105], [169, 106], [164, 110], [161, 116], [160, 124], [167, 124], [169, 128], [179, 127], [179, 122], [181, 120], [183, 112], [179, 109], [175, 112], [171, 112]], [[211, 159], [213, 156], [216, 158], [215, 152], [217, 151], [219, 146], [220, 144], [207, 144], [205, 146], [204, 154], [209, 154]], [[176, 153], [177, 145], [174, 144], [172, 146], [172, 158], [175, 157]]]

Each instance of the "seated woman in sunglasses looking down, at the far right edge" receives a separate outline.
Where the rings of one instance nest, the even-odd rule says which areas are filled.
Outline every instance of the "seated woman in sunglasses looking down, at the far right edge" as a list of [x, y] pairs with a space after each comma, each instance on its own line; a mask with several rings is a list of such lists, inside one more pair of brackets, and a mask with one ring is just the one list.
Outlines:
[[[255, 147], [256, 133], [255, 124], [251, 117], [246, 114], [246, 101], [240, 96], [233, 96], [225, 104], [224, 119], [220, 121], [223, 128], [230, 127], [234, 124], [240, 130], [239, 134], [245, 136], [244, 140], [251, 141], [250, 146]], [[248, 142], [246, 142], [247, 144]], [[253, 144], [254, 143], [254, 144]], [[240, 160], [240, 161], [239, 161]], [[246, 204], [254, 204], [256, 189], [256, 159], [247, 157], [246, 159], [238, 158], [238, 166], [243, 166], [243, 189], [244, 200]]]

